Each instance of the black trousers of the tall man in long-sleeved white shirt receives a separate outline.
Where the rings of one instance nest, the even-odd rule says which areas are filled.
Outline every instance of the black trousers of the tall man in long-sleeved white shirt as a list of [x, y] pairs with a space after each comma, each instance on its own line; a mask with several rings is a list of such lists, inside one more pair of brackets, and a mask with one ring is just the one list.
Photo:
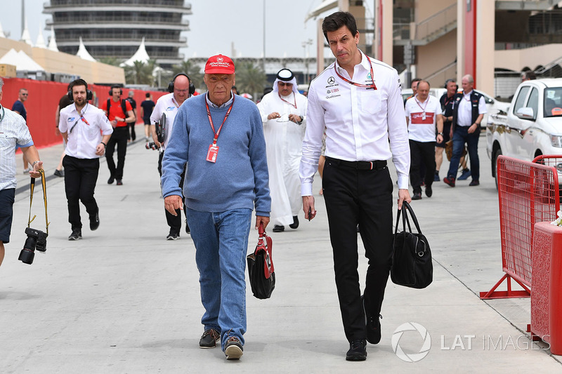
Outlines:
[[392, 263], [392, 191], [388, 167], [362, 171], [326, 159], [322, 189], [328, 213], [329, 237], [341, 319], [348, 341], [365, 339], [365, 314], [358, 274], [357, 225], [368, 259], [365, 308], [381, 311]]

